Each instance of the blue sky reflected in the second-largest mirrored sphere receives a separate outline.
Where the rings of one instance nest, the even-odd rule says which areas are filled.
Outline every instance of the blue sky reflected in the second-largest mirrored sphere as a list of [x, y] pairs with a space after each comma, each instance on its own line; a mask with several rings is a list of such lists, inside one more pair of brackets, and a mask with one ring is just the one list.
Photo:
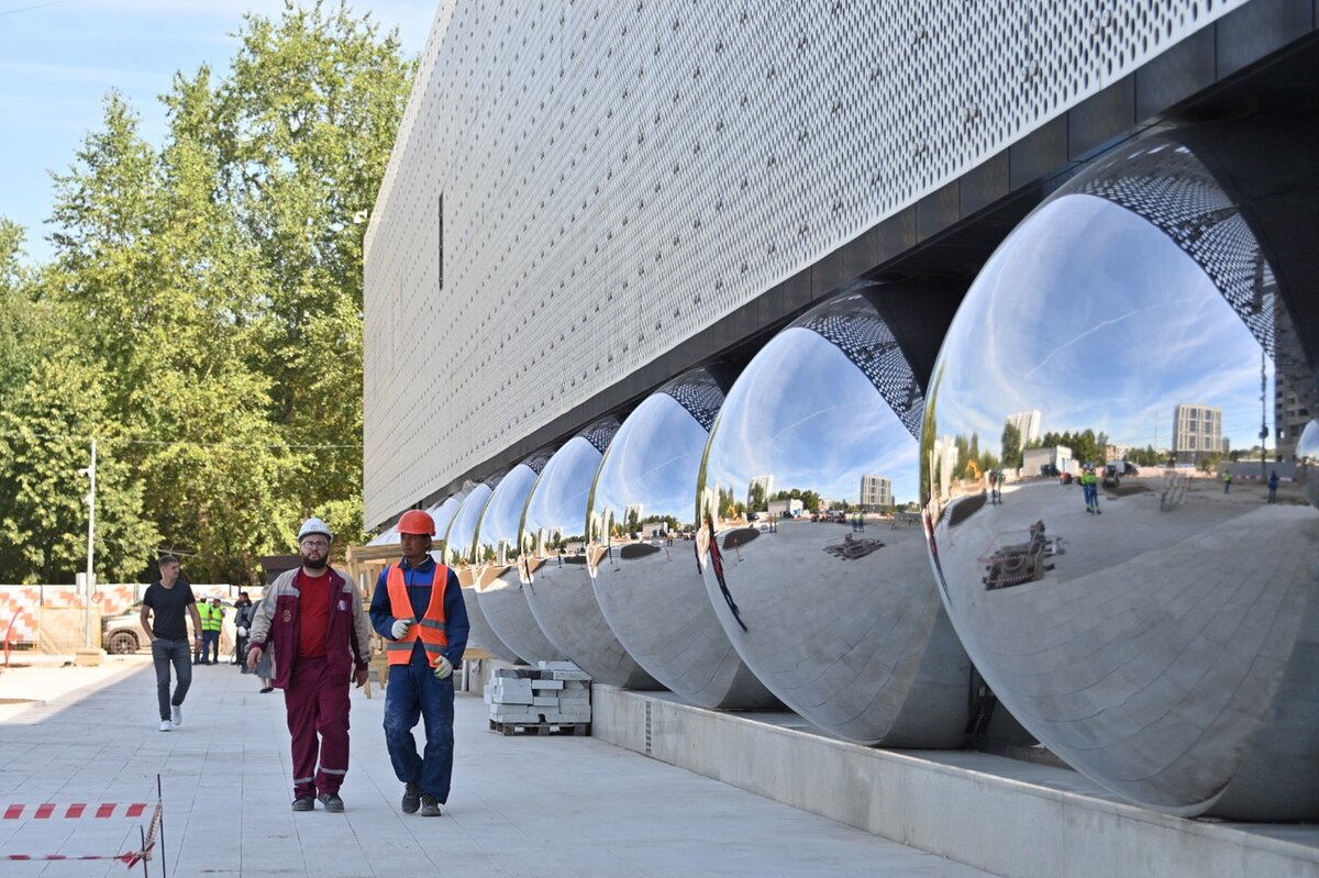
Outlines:
[[917, 442], [869, 378], [810, 330], [780, 332], [737, 378], [715, 422], [706, 485], [747, 498], [801, 488], [859, 502], [861, 476], [893, 480], [893, 500], [917, 500]]

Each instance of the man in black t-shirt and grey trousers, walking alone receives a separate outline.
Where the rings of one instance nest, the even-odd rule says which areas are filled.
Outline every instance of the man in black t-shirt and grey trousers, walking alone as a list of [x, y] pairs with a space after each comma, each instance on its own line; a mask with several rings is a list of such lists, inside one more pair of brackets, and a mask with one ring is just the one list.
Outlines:
[[[161, 577], [146, 587], [138, 616], [142, 630], [152, 641], [152, 660], [156, 663], [156, 700], [161, 709], [161, 732], [183, 725], [183, 699], [193, 684], [191, 650], [187, 639], [187, 616], [193, 616], [193, 635], [197, 649], [202, 649], [202, 616], [197, 612], [193, 587], [179, 579], [178, 559], [165, 555], [160, 560]], [[148, 617], [154, 614], [154, 620]], [[169, 666], [174, 664], [178, 686], [174, 696], [169, 692]]]

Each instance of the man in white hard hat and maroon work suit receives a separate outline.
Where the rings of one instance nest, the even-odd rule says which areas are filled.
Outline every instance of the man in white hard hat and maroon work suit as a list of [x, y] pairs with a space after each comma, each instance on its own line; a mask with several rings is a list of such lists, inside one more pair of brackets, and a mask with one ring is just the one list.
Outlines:
[[[280, 573], [248, 630], [248, 667], [273, 650], [270, 684], [284, 689], [293, 746], [293, 809], [343, 811], [348, 773], [348, 682], [367, 683], [371, 622], [361, 595], [330, 568], [334, 535], [319, 518], [298, 530], [302, 567]], [[319, 758], [319, 769], [318, 766]]]

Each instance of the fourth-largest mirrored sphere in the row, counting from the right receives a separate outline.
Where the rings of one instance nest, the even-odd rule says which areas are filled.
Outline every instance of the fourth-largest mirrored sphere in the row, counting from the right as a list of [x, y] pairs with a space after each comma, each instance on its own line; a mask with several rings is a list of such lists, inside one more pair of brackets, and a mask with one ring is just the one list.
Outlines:
[[609, 415], [568, 439], [545, 465], [522, 519], [526, 600], [541, 630], [598, 683], [654, 689], [600, 613], [586, 572], [591, 483], [619, 419]]

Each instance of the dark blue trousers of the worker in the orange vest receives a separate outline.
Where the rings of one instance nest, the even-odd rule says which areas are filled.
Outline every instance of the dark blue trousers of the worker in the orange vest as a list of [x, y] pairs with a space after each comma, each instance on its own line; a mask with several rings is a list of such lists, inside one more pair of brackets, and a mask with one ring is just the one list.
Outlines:
[[[413, 726], [421, 718], [426, 729], [425, 757], [417, 755]], [[426, 651], [414, 649], [409, 664], [389, 668], [385, 687], [385, 745], [394, 775], [404, 783], [419, 783], [423, 795], [448, 802], [454, 774], [454, 678], [437, 680]]]

